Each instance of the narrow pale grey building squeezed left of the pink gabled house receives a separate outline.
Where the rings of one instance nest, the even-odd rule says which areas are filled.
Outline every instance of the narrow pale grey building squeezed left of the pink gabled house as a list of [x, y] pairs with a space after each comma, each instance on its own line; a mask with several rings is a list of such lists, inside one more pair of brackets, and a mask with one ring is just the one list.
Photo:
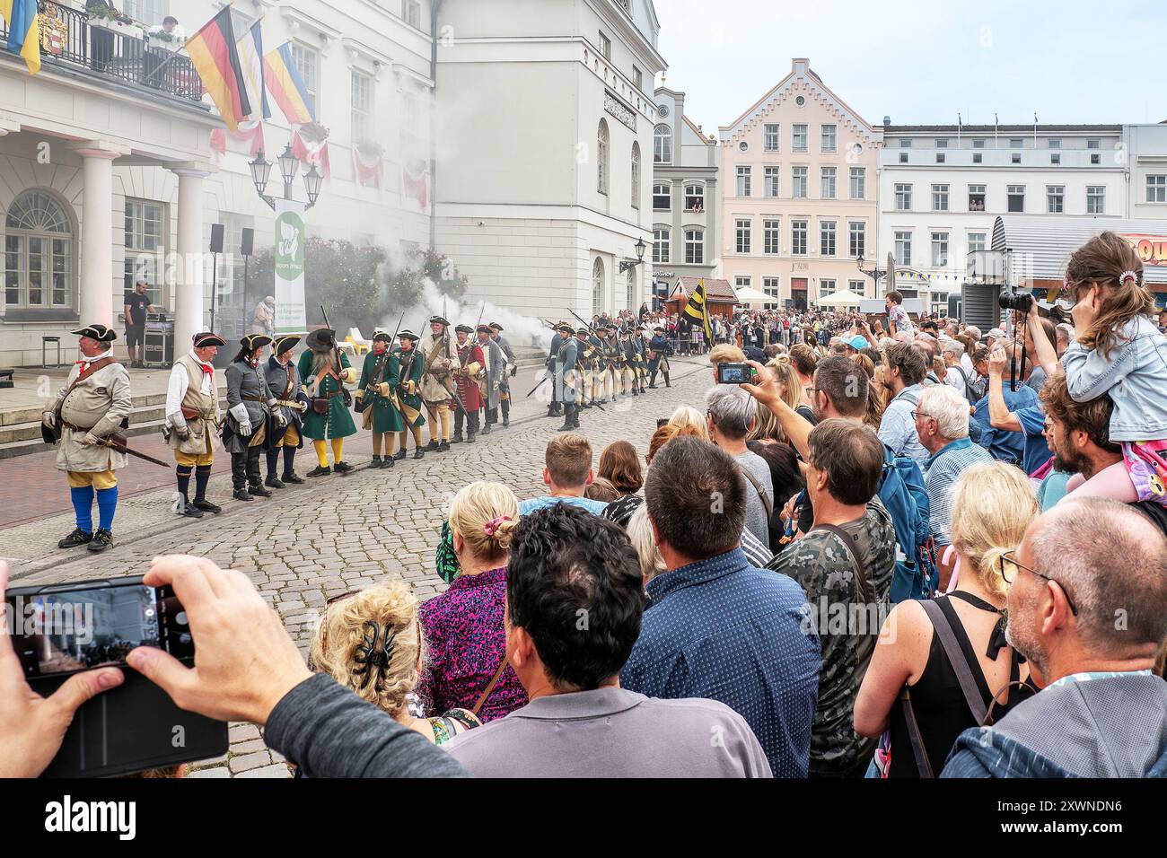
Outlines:
[[652, 281], [668, 295], [683, 277], [720, 265], [721, 148], [685, 116], [685, 93], [658, 86], [652, 131]]

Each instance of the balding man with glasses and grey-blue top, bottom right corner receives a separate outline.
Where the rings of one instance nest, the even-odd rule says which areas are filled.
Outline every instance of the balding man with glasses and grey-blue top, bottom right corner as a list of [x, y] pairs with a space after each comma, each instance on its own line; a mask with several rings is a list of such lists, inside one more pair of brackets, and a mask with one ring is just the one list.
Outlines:
[[[1116, 559], [1121, 558], [1121, 568]], [[1044, 689], [964, 731], [943, 777], [1167, 776], [1167, 542], [1099, 497], [1039, 516], [1001, 558], [1005, 634]]]

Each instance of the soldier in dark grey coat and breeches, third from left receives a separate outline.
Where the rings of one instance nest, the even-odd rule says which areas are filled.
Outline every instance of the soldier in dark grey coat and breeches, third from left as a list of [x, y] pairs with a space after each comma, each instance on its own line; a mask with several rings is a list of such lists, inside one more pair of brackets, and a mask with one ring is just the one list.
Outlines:
[[268, 417], [280, 427], [287, 418], [277, 397], [267, 388], [267, 371], [260, 370], [267, 334], [247, 334], [239, 341], [239, 354], [223, 372], [226, 378], [226, 420], [223, 421], [223, 449], [231, 454], [232, 497], [250, 501], [271, 497], [259, 475], [259, 454], [267, 440]]

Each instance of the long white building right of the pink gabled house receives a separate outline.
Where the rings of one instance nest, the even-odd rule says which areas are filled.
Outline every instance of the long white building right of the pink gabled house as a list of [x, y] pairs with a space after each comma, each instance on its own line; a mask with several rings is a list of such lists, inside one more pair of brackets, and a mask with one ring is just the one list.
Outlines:
[[990, 249], [998, 216], [1126, 217], [1126, 161], [1120, 125], [885, 120], [879, 259], [893, 253], [896, 288], [948, 314], [967, 253]]

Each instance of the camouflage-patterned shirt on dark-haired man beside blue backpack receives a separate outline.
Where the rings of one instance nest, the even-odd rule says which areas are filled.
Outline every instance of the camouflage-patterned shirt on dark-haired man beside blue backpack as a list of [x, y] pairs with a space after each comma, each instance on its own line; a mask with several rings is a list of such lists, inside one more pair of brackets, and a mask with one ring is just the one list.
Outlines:
[[855, 566], [843, 540], [826, 530], [811, 530], [775, 556], [769, 567], [794, 578], [805, 591], [809, 622], [823, 644], [818, 706], [811, 726], [811, 774], [847, 774], [864, 768], [875, 739], [853, 730], [855, 697], [867, 672], [880, 626], [892, 609], [888, 594], [895, 568], [895, 528], [878, 497], [862, 518], [843, 525], [858, 543], [875, 604], [859, 594]]

